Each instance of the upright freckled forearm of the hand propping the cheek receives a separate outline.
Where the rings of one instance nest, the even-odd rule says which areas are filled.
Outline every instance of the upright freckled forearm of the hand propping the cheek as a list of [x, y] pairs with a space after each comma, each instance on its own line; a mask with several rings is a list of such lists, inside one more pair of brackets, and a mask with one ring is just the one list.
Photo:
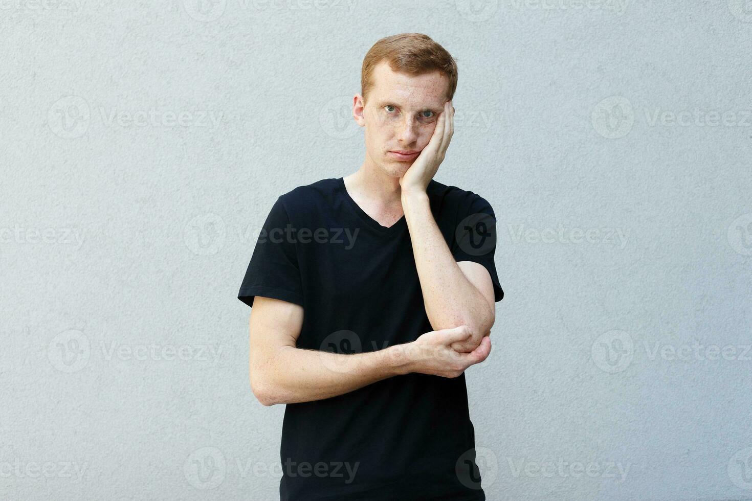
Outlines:
[[493, 325], [493, 309], [454, 261], [431, 213], [428, 195], [403, 192], [402, 208], [432, 327], [438, 330], [464, 324], [474, 332], [486, 333]]

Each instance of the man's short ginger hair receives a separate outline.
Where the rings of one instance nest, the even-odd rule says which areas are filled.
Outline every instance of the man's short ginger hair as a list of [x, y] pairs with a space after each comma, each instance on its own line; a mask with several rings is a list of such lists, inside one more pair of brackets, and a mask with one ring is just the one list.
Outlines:
[[457, 88], [457, 63], [444, 47], [423, 33], [400, 33], [381, 38], [368, 50], [360, 71], [360, 94], [363, 101], [374, 86], [373, 71], [386, 60], [392, 71], [421, 75], [439, 71], [449, 77], [447, 100]]

